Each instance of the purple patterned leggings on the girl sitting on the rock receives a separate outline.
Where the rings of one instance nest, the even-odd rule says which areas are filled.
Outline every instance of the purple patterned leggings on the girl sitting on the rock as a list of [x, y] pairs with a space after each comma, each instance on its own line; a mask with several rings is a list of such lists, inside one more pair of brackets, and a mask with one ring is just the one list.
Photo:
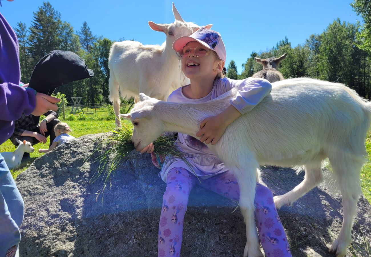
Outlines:
[[[239, 187], [232, 172], [215, 175], [200, 183], [197, 177], [183, 167], [171, 169], [167, 175], [160, 225], [158, 228], [158, 256], [180, 256], [183, 237], [184, 214], [187, 211], [188, 196], [194, 185], [210, 189], [227, 198], [238, 201]], [[256, 183], [255, 219], [258, 225], [260, 243], [266, 256], [291, 257], [285, 230], [273, 202], [272, 191]]]

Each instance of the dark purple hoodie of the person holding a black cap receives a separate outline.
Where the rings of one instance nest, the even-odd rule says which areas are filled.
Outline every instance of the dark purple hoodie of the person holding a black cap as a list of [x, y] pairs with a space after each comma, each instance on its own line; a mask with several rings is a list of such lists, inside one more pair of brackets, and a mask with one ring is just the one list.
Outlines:
[[13, 134], [14, 120], [30, 115], [36, 106], [35, 92], [19, 86], [20, 66], [16, 33], [0, 13], [0, 144]]

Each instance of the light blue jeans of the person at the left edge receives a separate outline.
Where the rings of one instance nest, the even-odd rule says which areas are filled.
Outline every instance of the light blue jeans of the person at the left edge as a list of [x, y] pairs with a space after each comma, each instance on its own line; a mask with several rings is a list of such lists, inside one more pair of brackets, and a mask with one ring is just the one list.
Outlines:
[[21, 240], [24, 202], [16, 183], [0, 154], [0, 257]]

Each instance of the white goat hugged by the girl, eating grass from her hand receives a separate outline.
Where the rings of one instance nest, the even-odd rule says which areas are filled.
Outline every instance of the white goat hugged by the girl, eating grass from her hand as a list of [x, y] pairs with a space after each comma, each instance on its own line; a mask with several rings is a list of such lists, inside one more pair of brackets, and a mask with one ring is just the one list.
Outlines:
[[[342, 228], [330, 251], [337, 257], [345, 256], [361, 193], [359, 173], [367, 155], [364, 142], [370, 127], [371, 103], [339, 83], [293, 78], [272, 85], [270, 95], [231, 123], [217, 144], [209, 144], [239, 183], [240, 208], [247, 229], [243, 256], [262, 256], [253, 214], [259, 164], [305, 168], [299, 185], [285, 195], [275, 196], [276, 208], [280, 208], [323, 181], [321, 164], [326, 157], [344, 207]], [[233, 89], [207, 103], [184, 104], [141, 94], [141, 102], [131, 113], [120, 116], [131, 119], [132, 141], [137, 149], [143, 149], [164, 131], [196, 137], [200, 121], [219, 114], [235, 95]]]

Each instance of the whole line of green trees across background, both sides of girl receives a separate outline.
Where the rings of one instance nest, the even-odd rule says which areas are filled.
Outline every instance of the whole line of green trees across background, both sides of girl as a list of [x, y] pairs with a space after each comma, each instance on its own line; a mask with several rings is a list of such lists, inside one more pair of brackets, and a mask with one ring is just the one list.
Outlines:
[[[242, 65], [241, 74], [232, 60], [226, 76], [243, 79], [262, 69], [254, 58], [278, 57], [288, 53], [279, 64], [283, 77], [312, 77], [341, 82], [365, 98], [371, 97], [371, 0], [354, 0], [351, 6], [363, 19], [356, 24], [334, 20], [321, 34], [310, 35], [303, 44], [291, 46], [288, 38], [265, 52], [253, 51]], [[114, 41], [93, 35], [84, 22], [77, 31], [70, 23], [62, 21], [60, 13], [50, 2], [44, 2], [33, 13], [32, 24], [18, 22], [15, 31], [19, 40], [21, 79], [29, 81], [36, 63], [47, 53], [59, 49], [72, 51], [85, 60], [94, 77], [71, 82], [57, 88], [61, 94], [82, 97], [84, 104], [108, 102], [108, 56]], [[124, 40], [124, 38], [119, 39]]]

